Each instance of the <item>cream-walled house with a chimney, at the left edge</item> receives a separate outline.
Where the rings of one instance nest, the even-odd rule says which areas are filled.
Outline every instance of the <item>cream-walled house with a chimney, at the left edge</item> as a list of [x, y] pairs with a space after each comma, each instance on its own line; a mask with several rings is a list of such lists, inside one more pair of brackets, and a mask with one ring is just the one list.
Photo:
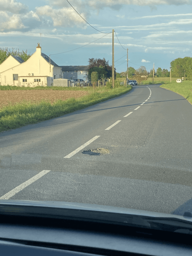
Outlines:
[[61, 67], [36, 47], [27, 61], [10, 55], [0, 65], [0, 84], [16, 86], [52, 86], [53, 79], [63, 78]]

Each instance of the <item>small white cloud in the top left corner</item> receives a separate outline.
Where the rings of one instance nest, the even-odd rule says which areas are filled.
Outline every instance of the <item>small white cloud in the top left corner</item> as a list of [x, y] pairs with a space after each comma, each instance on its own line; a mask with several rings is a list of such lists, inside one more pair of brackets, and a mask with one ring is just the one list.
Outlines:
[[0, 0], [1, 11], [12, 13], [26, 12], [28, 7], [25, 4], [15, 2], [14, 0]]

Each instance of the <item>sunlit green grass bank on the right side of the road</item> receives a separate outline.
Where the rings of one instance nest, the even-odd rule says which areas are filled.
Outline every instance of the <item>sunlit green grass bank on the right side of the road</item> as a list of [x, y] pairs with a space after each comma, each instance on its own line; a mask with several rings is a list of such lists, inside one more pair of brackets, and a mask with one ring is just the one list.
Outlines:
[[160, 87], [180, 94], [192, 104], [192, 81], [185, 81], [183, 83], [171, 82], [162, 84]]

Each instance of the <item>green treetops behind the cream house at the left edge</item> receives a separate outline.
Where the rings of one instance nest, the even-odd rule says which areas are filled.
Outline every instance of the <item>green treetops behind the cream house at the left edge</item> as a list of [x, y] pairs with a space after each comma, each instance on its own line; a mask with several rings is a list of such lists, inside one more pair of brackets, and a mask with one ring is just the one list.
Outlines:
[[23, 59], [24, 61], [28, 60], [31, 57], [30, 54], [27, 54], [27, 50], [25, 52], [23, 50], [22, 52], [20, 52], [19, 49], [14, 50], [14, 48], [12, 48], [11, 52], [10, 49], [8, 51], [8, 48], [0, 48], [0, 64], [10, 55], [21, 57], [21, 59]]

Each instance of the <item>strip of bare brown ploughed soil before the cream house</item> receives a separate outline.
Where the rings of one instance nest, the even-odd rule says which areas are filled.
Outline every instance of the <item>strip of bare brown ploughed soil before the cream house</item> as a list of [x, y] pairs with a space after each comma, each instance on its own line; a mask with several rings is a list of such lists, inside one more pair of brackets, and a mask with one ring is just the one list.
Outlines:
[[50, 100], [51, 103], [57, 100], [67, 100], [69, 98], [79, 98], [87, 95], [89, 92], [81, 91], [55, 91], [55, 90], [24, 90], [24, 91], [0, 91], [0, 108], [14, 105], [23, 100], [31, 100], [37, 103], [41, 100]]

